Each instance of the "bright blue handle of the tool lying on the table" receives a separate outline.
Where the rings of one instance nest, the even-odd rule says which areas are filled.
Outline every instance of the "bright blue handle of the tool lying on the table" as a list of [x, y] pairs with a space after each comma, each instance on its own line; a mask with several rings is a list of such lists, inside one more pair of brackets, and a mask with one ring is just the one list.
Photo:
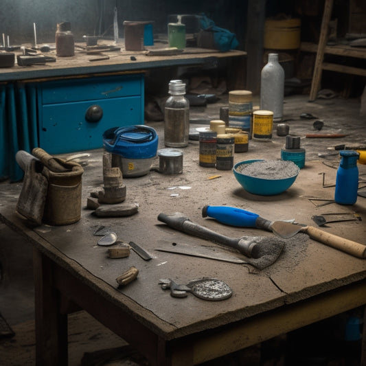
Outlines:
[[258, 214], [236, 207], [208, 205], [203, 207], [202, 216], [216, 218], [222, 224], [237, 227], [257, 227], [255, 222], [259, 217]]

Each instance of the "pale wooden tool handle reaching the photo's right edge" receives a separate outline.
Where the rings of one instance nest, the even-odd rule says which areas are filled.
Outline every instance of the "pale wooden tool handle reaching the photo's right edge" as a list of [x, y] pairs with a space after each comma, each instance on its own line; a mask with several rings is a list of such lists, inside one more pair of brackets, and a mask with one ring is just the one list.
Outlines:
[[307, 226], [301, 229], [301, 231], [306, 232], [310, 238], [327, 244], [330, 247], [354, 255], [357, 258], [366, 258], [366, 246], [363, 244], [327, 233], [317, 227]]

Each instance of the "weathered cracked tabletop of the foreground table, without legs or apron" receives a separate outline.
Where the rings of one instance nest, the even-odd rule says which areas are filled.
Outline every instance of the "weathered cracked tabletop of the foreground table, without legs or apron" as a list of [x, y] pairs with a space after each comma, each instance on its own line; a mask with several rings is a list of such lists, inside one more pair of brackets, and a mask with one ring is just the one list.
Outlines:
[[[159, 134], [162, 133], [160, 122], [153, 126]], [[159, 148], [162, 147], [161, 139]], [[152, 170], [146, 176], [124, 178], [127, 190], [125, 203], [139, 205], [139, 212], [134, 216], [97, 218], [90, 210], [83, 208], [82, 218], [76, 224], [60, 227], [42, 225], [34, 230], [27, 229], [24, 220], [15, 212], [21, 183], [10, 183], [2, 185], [0, 218], [13, 229], [21, 231], [56, 263], [76, 273], [81, 270], [90, 273], [91, 278], [95, 279], [95, 290], [121, 304], [128, 299], [128, 312], [141, 318], [165, 339], [245, 319], [365, 279], [365, 260], [310, 240], [305, 234], [286, 240], [286, 247], [277, 262], [262, 271], [249, 264], [231, 264], [155, 251], [159, 240], [220, 247], [170, 229], [157, 220], [160, 213], [180, 211], [190, 220], [233, 238], [274, 235], [261, 229], [229, 227], [216, 220], [202, 218], [201, 211], [205, 205], [240, 207], [268, 220], [295, 219], [312, 226], [316, 226], [311, 220], [315, 214], [356, 211], [362, 221], [335, 222], [323, 229], [366, 244], [366, 198], [358, 197], [352, 207], [335, 203], [315, 207], [308, 200], [308, 197], [330, 200], [334, 197], [334, 187], [323, 187], [321, 173], [325, 172], [327, 183], [332, 183], [335, 182], [336, 170], [321, 161], [306, 162], [297, 180], [286, 192], [277, 196], [256, 196], [246, 192], [231, 171], [199, 166], [198, 141], [190, 141], [189, 146], [182, 150], [183, 174], [170, 176]], [[82, 176], [82, 207], [86, 205], [87, 196], [103, 184], [102, 149], [89, 153], [88, 165], [84, 166]], [[262, 155], [265, 154], [264, 149]], [[235, 162], [260, 158], [249, 149], [249, 152], [236, 154]], [[153, 165], [159, 166], [158, 159]], [[364, 169], [365, 165], [360, 168]], [[209, 179], [216, 174], [218, 178]], [[128, 258], [108, 259], [108, 248], [98, 246], [100, 237], [93, 236], [100, 225], [111, 227], [117, 233], [118, 240], [136, 242], [155, 258], [146, 262], [131, 251]], [[117, 288], [115, 279], [130, 266], [139, 269], [137, 279], [124, 288]], [[162, 278], [185, 284], [201, 277], [222, 279], [233, 290], [232, 297], [224, 301], [204, 301], [193, 295], [177, 299], [159, 285]]]

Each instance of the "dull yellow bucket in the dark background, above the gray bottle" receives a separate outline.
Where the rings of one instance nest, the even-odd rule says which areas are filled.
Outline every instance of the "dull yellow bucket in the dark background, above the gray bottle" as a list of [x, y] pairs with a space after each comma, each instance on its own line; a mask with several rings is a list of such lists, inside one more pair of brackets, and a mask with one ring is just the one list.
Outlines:
[[300, 19], [268, 18], [264, 22], [264, 48], [297, 49], [300, 47], [300, 32]]

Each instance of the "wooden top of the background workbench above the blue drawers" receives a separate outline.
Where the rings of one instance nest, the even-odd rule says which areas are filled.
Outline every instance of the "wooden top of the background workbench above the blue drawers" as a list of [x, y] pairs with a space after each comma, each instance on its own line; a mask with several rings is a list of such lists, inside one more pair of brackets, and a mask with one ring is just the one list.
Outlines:
[[[230, 50], [219, 52], [215, 49], [203, 49], [187, 47], [184, 52], [176, 55], [147, 56], [149, 49], [161, 47], [149, 46], [144, 51], [120, 51], [101, 52], [100, 54], [86, 54], [82, 49], [76, 48], [75, 56], [56, 57], [56, 52], [45, 53], [46, 56], [56, 57], [56, 62], [46, 62], [45, 65], [32, 65], [22, 67], [15, 65], [1, 69], [0, 82], [12, 80], [29, 80], [47, 78], [67, 78], [75, 76], [92, 76], [101, 73], [123, 73], [126, 71], [141, 71], [157, 67], [204, 65], [208, 60], [233, 59], [237, 60], [239, 67], [236, 78], [244, 72], [244, 57], [247, 52]], [[16, 51], [17, 54], [19, 52]], [[91, 61], [102, 56], [109, 56], [108, 60]], [[134, 58], [134, 59], [131, 59]], [[243, 78], [241, 78], [241, 81]]]

